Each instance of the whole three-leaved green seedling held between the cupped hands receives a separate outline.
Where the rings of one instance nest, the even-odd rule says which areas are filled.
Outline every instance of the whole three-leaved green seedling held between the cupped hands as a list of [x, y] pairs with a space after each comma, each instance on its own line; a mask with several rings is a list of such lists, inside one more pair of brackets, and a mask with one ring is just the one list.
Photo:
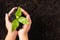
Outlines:
[[16, 19], [14, 19], [12, 21], [12, 31], [16, 30], [17, 27], [20, 25], [19, 23], [22, 23], [22, 24], [28, 24], [28, 20], [22, 16], [22, 11], [21, 11], [21, 8], [18, 7], [16, 13], [15, 13], [15, 17]]

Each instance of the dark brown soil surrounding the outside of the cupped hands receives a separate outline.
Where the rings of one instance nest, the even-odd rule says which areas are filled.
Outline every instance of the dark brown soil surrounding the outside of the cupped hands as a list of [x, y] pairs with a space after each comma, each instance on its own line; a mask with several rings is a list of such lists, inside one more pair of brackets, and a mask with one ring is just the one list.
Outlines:
[[21, 6], [31, 16], [29, 40], [60, 40], [59, 0], [0, 0], [0, 40], [7, 34], [5, 13], [15, 6]]

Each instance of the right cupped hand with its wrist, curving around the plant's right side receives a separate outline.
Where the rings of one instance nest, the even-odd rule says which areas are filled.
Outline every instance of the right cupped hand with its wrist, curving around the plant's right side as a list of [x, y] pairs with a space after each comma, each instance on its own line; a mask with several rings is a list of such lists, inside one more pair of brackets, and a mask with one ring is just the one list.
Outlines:
[[29, 21], [29, 24], [23, 25], [23, 28], [18, 31], [18, 36], [20, 40], [28, 40], [28, 32], [30, 30], [32, 21], [29, 14], [24, 9], [21, 8], [21, 11], [26, 16], [26, 19]]

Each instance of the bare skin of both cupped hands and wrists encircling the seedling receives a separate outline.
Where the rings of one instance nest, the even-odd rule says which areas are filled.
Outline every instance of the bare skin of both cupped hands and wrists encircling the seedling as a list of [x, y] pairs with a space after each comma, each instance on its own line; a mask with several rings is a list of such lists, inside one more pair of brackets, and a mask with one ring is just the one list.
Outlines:
[[10, 17], [10, 14], [15, 9], [17, 9], [17, 7], [12, 8], [11, 11], [8, 14], [6, 13], [5, 15], [6, 28], [8, 30], [5, 40], [15, 40], [17, 35], [19, 36], [19, 40], [28, 40], [28, 32], [30, 30], [32, 22], [29, 14], [24, 9], [21, 8], [21, 11], [26, 16], [26, 19], [29, 21], [29, 24], [23, 25], [23, 28], [20, 29], [19, 31], [17, 30], [14, 30], [13, 32], [11, 31], [12, 23], [9, 21], [9, 17]]

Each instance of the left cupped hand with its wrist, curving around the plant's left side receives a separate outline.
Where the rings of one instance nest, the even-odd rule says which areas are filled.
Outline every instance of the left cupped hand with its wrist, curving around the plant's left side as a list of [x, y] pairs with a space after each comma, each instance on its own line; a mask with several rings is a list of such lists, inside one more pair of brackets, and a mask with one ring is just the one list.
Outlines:
[[5, 40], [15, 40], [16, 36], [17, 36], [17, 31], [11, 31], [11, 27], [12, 27], [12, 23], [9, 21], [9, 17], [10, 17], [10, 14], [15, 10], [17, 9], [17, 7], [14, 7], [12, 8], [12, 10], [6, 15], [5, 15], [5, 22], [6, 22], [6, 28], [8, 30], [8, 33], [7, 33], [7, 36], [5, 38]]

